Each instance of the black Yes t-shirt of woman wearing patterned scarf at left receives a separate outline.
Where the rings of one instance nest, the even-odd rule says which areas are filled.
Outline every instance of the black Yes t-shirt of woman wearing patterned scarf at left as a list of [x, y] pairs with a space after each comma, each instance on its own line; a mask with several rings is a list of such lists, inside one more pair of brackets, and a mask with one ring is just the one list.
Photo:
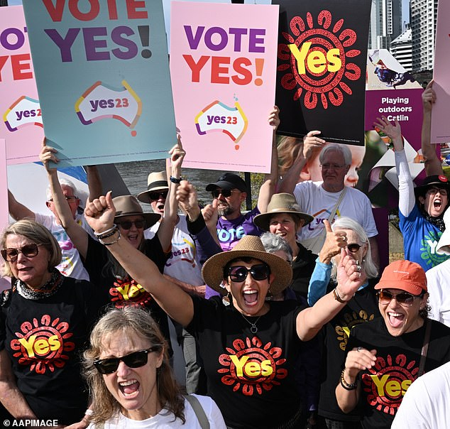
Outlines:
[[101, 313], [101, 293], [87, 281], [65, 277], [48, 298], [28, 300], [15, 289], [4, 298], [0, 350], [11, 359], [18, 389], [39, 419], [78, 422], [88, 405], [79, 354]]

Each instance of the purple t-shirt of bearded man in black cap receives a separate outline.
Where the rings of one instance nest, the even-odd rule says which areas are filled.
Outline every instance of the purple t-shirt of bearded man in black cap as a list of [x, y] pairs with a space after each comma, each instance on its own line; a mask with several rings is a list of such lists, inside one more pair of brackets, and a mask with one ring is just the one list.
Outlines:
[[264, 231], [253, 223], [253, 218], [259, 214], [258, 207], [255, 207], [245, 215], [236, 217], [233, 220], [219, 217], [217, 220], [217, 237], [222, 250], [229, 251], [233, 249], [244, 235], [256, 235], [259, 237], [263, 234]]

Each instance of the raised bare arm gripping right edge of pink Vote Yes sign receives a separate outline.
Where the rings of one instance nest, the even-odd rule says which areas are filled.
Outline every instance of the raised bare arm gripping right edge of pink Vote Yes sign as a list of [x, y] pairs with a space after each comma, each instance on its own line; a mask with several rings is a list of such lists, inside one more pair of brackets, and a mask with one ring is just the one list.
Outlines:
[[280, 125], [280, 109], [274, 106], [269, 114], [269, 125], [273, 129], [272, 133], [272, 152], [270, 158], [270, 173], [264, 176], [264, 183], [261, 185], [258, 194], [258, 210], [263, 213], [267, 211], [270, 198], [275, 192], [278, 183], [278, 152], [277, 152], [277, 129]]

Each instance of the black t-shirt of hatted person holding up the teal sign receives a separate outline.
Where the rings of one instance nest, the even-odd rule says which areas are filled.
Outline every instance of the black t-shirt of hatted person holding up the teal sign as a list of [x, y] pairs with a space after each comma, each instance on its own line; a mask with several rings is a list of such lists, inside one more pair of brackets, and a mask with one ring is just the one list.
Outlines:
[[[106, 246], [95, 241], [92, 237], [89, 237], [88, 240], [87, 256], [83, 264], [89, 273], [91, 282], [104, 291], [105, 304], [112, 304], [116, 308], [123, 308], [125, 305], [148, 308], [153, 319], [158, 322], [165, 339], [170, 344], [168, 317], [153, 299], [153, 296], [129, 276], [125, 279], [114, 276], [111, 266], [108, 264], [109, 251]], [[143, 254], [151, 259], [163, 273], [168, 254], [164, 253], [158, 235], [144, 241]]]

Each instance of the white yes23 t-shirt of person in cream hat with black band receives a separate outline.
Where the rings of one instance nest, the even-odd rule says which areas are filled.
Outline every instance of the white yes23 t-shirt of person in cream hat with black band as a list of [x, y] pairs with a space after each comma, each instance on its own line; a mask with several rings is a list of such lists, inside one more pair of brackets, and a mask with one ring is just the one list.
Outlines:
[[[180, 219], [175, 225], [172, 236], [172, 251], [164, 266], [164, 273], [177, 280], [184, 281], [192, 286], [203, 286], [202, 266], [197, 259], [194, 240], [187, 231], [185, 215], [179, 215]], [[152, 239], [160, 222], [156, 222], [144, 231], [146, 239]]]

